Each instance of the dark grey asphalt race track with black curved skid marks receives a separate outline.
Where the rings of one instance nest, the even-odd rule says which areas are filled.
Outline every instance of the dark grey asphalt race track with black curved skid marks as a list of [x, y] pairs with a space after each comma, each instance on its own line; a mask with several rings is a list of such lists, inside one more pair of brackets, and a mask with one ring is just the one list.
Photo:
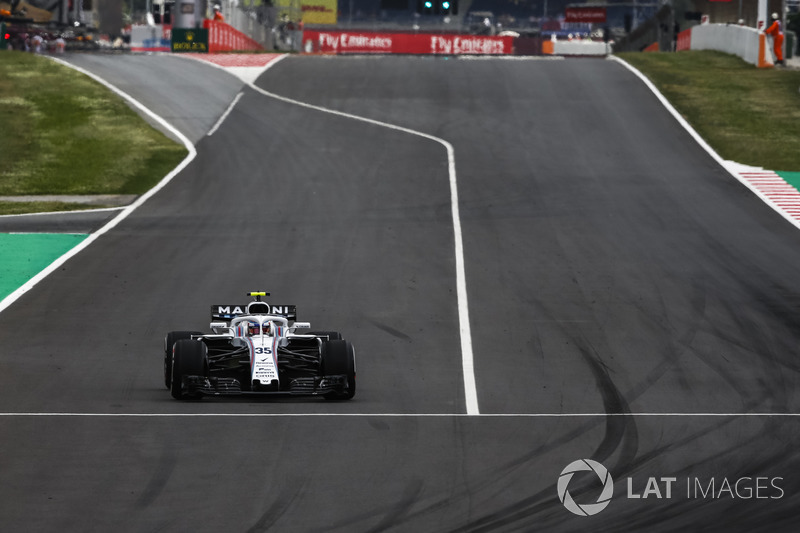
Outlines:
[[[215, 89], [186, 170], [0, 313], [0, 529], [797, 529], [800, 232], [621, 65], [109, 61]], [[263, 91], [452, 144], [479, 415], [444, 147]], [[171, 399], [164, 334], [259, 289], [354, 343], [353, 401]]]

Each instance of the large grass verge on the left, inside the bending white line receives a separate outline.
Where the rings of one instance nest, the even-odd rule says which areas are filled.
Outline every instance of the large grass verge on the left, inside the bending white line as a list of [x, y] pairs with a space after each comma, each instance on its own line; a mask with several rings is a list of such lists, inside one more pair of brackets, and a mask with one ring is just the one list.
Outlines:
[[0, 124], [6, 196], [142, 194], [187, 153], [96, 81], [23, 52], [0, 51]]

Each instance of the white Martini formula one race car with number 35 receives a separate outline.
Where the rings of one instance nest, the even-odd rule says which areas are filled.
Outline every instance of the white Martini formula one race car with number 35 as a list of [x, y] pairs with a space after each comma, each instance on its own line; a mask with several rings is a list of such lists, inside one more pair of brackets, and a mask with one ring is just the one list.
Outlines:
[[178, 400], [202, 396], [310, 395], [349, 400], [356, 393], [353, 345], [338, 332], [295, 333], [293, 305], [261, 301], [212, 305], [213, 334], [172, 331], [164, 340], [164, 383]]

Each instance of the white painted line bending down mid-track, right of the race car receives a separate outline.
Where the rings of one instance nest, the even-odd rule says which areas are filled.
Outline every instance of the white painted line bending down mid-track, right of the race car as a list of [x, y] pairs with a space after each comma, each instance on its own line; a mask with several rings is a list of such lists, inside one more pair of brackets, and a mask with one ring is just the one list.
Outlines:
[[[274, 61], [272, 63], [274, 63]], [[435, 137], [428, 133], [423, 133], [420, 131], [412, 130], [410, 128], [405, 128], [403, 126], [397, 126], [395, 124], [389, 124], [371, 118], [360, 117], [358, 115], [351, 115], [343, 111], [337, 111], [335, 109], [329, 109], [326, 107], [321, 107], [314, 104], [301, 102], [299, 100], [294, 100], [292, 98], [287, 98], [285, 96], [280, 96], [275, 93], [271, 93], [265, 89], [262, 89], [256, 86], [255, 83], [252, 82], [248, 83], [248, 85], [250, 86], [251, 89], [263, 94], [264, 96], [288, 104], [297, 105], [307, 109], [312, 109], [314, 111], [336, 115], [351, 120], [358, 120], [360, 122], [365, 122], [367, 124], [380, 126], [382, 128], [388, 128], [402, 133], [408, 133], [410, 135], [415, 135], [417, 137], [422, 137], [424, 139], [435, 141], [444, 146], [444, 148], [447, 151], [448, 177], [450, 181], [450, 204], [451, 204], [450, 210], [453, 219], [453, 238], [455, 245], [455, 261], [456, 261], [456, 295], [458, 300], [457, 303], [458, 303], [459, 332], [461, 336], [461, 365], [462, 365], [462, 374], [464, 378], [464, 400], [468, 415], [480, 414], [480, 409], [478, 406], [478, 392], [475, 382], [474, 356], [472, 351], [472, 332], [469, 320], [466, 271], [464, 267], [464, 244], [461, 234], [461, 217], [458, 209], [458, 180], [456, 177], [455, 151], [453, 149], [453, 146], [446, 140], [441, 139], [439, 137]]]

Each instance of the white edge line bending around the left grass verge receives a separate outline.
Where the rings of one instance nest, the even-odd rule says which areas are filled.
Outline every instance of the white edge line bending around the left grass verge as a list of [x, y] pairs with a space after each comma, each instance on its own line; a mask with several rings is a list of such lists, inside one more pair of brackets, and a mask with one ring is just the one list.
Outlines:
[[72, 257], [74, 257], [77, 254], [79, 254], [80, 252], [82, 252], [84, 249], [86, 249], [90, 244], [92, 244], [95, 240], [97, 240], [98, 237], [100, 237], [101, 235], [105, 234], [106, 232], [108, 232], [109, 230], [114, 228], [117, 224], [119, 224], [120, 222], [122, 222], [123, 220], [128, 218], [128, 216], [131, 213], [133, 213], [140, 205], [145, 203], [148, 199], [150, 199], [150, 197], [152, 197], [158, 191], [163, 189], [167, 185], [167, 183], [172, 181], [172, 179], [175, 176], [177, 176], [184, 168], [186, 168], [186, 166], [197, 156], [197, 151], [195, 150], [194, 145], [192, 144], [192, 142], [183, 133], [181, 133], [177, 128], [175, 128], [174, 126], [169, 124], [166, 120], [164, 120], [160, 116], [156, 115], [153, 111], [151, 111], [149, 108], [145, 107], [142, 103], [140, 103], [138, 100], [136, 100], [135, 98], [130, 96], [128, 93], [123, 92], [122, 90], [120, 90], [116, 86], [114, 86], [111, 83], [107, 82], [103, 78], [101, 78], [101, 77], [89, 72], [86, 69], [83, 69], [83, 68], [80, 68], [78, 66], [72, 65], [72, 64], [70, 64], [70, 63], [68, 63], [66, 61], [63, 61], [61, 59], [58, 59], [58, 58], [51, 57], [50, 59], [55, 61], [55, 62], [57, 62], [57, 63], [65, 65], [65, 66], [67, 66], [67, 67], [69, 67], [71, 69], [74, 69], [74, 70], [80, 72], [81, 74], [89, 76], [90, 78], [92, 78], [93, 80], [97, 81], [101, 85], [104, 85], [105, 87], [110, 89], [112, 92], [116, 93], [118, 96], [120, 96], [120, 97], [124, 98], [125, 100], [127, 100], [135, 108], [139, 109], [142, 113], [146, 114], [148, 117], [150, 117], [151, 119], [153, 119], [156, 122], [158, 122], [161, 126], [166, 128], [167, 130], [169, 130], [178, 139], [180, 139], [189, 153], [183, 159], [183, 161], [181, 161], [178, 164], [177, 167], [172, 169], [172, 171], [169, 174], [164, 176], [164, 178], [162, 178], [161, 181], [159, 181], [152, 189], [150, 189], [149, 191], [147, 191], [146, 193], [141, 195], [132, 204], [130, 204], [129, 206], [125, 207], [117, 216], [115, 216], [114, 218], [109, 220], [99, 230], [97, 230], [96, 232], [90, 234], [86, 239], [81, 241], [80, 244], [76, 245], [74, 248], [70, 249], [67, 253], [65, 253], [64, 255], [62, 255], [61, 257], [59, 257], [58, 259], [56, 259], [52, 263], [50, 263], [50, 265], [48, 265], [44, 270], [42, 270], [41, 272], [36, 274], [30, 280], [28, 280], [27, 283], [25, 283], [20, 288], [18, 288], [17, 290], [15, 290], [11, 294], [9, 294], [8, 296], [6, 296], [2, 300], [0, 300], [0, 313], [2, 313], [4, 310], [8, 309], [8, 307], [11, 304], [13, 304], [14, 302], [16, 302], [23, 294], [25, 294], [26, 292], [31, 290], [34, 286], [36, 286], [37, 283], [39, 283], [40, 281], [45, 279], [47, 276], [49, 276], [50, 274], [55, 272], [59, 267], [61, 267], [61, 265], [66, 263], [69, 259], [71, 259]]

